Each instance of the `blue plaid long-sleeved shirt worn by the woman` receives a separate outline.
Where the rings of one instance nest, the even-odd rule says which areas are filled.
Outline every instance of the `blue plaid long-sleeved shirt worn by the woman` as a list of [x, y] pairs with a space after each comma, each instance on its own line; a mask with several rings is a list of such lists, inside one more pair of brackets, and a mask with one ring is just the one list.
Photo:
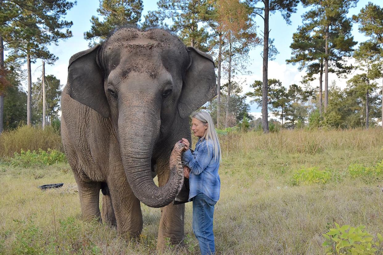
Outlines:
[[190, 150], [183, 153], [184, 164], [191, 170], [189, 201], [201, 192], [211, 200], [218, 201], [221, 180], [218, 174], [219, 159], [214, 156], [213, 143], [206, 142], [205, 138], [198, 140], [193, 153]]

